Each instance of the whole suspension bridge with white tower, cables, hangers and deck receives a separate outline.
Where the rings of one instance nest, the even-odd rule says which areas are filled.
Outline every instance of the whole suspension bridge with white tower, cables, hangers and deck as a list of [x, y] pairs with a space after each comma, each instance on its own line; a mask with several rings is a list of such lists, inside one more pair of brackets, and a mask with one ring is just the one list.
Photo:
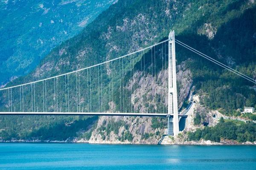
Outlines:
[[[256, 83], [227, 65], [169, 38], [147, 48], [47, 79], [0, 89], [0, 115], [160, 116], [177, 136], [175, 42]], [[190, 108], [190, 107], [189, 107]]]

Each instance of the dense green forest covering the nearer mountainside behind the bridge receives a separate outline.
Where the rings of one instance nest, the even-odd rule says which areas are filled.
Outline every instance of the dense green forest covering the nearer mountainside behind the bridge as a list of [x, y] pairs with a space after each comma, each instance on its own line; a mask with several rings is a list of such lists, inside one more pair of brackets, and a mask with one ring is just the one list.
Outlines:
[[[54, 48], [29, 75], [15, 79], [7, 87], [52, 77], [104, 62], [108, 59], [120, 57], [156, 42], [166, 40], [170, 30], [175, 30], [177, 40], [241, 71], [249, 77], [255, 77], [256, 39], [253, 37], [253, 34], [256, 32], [255, 10], [255, 3], [244, 0], [119, 0], [110, 6], [108, 10], [102, 12], [92, 23], [88, 24], [80, 34]], [[92, 96], [90, 100], [84, 98], [84, 102], [81, 103], [80, 107], [77, 105], [78, 98], [68, 99], [70, 111], [76, 112], [79, 108], [80, 111], [82, 108], [84, 111], [107, 111], [111, 109], [109, 105], [110, 99], [108, 97], [100, 98], [101, 96], [97, 90], [99, 86], [99, 75], [103, 76], [103, 88], [101, 92], [103, 96], [113, 96], [113, 98], [111, 97], [111, 101], [116, 105], [115, 111], [134, 110], [131, 107], [131, 96], [134, 95], [133, 91], [140, 87], [138, 84], [134, 84], [131, 89], [124, 87], [129, 86], [129, 83], [134, 78], [134, 73], [136, 74], [141, 71], [143, 74], [140, 76], [148, 75], [156, 78], [161, 71], [164, 71], [166, 65], [162, 63], [166, 63], [165, 56], [167, 55], [164, 51], [168, 51], [167, 45], [158, 45], [154, 49], [144, 51], [145, 53], [135, 55], [134, 60], [128, 57], [123, 61], [102, 65], [102, 68], [95, 67], [90, 70], [87, 69], [79, 73], [70, 74], [70, 88], [76, 89], [77, 77], [80, 76], [80, 83], [83, 88], [81, 90], [81, 96], [89, 96], [89, 94]], [[151, 61], [151, 53], [156, 56], [153, 62]], [[197, 54], [193, 54], [191, 51], [179, 45], [176, 45], [176, 58], [177, 65], [185, 61], [186, 69], [191, 72], [195, 94], [200, 95], [202, 104], [207, 108], [218, 110], [225, 115], [236, 115], [238, 113], [237, 109], [239, 108], [256, 106], [256, 91], [252, 88], [253, 83], [224, 70], [218, 65], [215, 65], [215, 63]], [[121, 68], [120, 62], [126, 65], [125, 68]], [[153, 63], [155, 67], [153, 67]], [[142, 69], [144, 67], [147, 68], [145, 71]], [[113, 78], [110, 78], [108, 75], [110, 68], [113, 71], [111, 75]], [[102, 69], [102, 72], [99, 72], [100, 69]], [[124, 77], [118, 80], [122, 71], [124, 71]], [[87, 74], [89, 73], [91, 74], [88, 78]], [[121, 80], [123, 82], [120, 87]], [[36, 107], [34, 106], [34, 111], [37, 110], [37, 106], [41, 110], [55, 111], [58, 109], [59, 111], [61, 109], [65, 111], [67, 109], [65, 98], [65, 82], [67, 82], [67, 76], [58, 79], [58, 83], [60, 83], [58, 85], [58, 108], [54, 104], [54, 90], [57, 88], [54, 87], [54, 83], [56, 81], [57, 79], [52, 79], [47, 82], [37, 83], [32, 87], [31, 85], [24, 86], [23, 91], [26, 91], [26, 95], [24, 96], [26, 107], [24, 109], [26, 111], [32, 109], [31, 89], [34, 89], [38, 96], [35, 98], [37, 99], [35, 101], [37, 105]], [[112, 82], [114, 86], [113, 91], [109, 90], [109, 85]], [[161, 84], [161, 82], [157, 83]], [[89, 92], [87, 90], [89, 86], [94, 90]], [[39, 98], [43, 93], [43, 87], [44, 89], [45, 87], [48, 89], [47, 95], [50, 99], [47, 101], [47, 105], [43, 105], [41, 102], [42, 99]], [[150, 91], [151, 89], [147, 90]], [[16, 100], [14, 99], [13, 101], [12, 109], [14, 107], [20, 109], [20, 91], [21, 89], [19, 88], [14, 88], [12, 91], [12, 93], [17, 94], [14, 95], [16, 96]], [[76, 96], [77, 93], [77, 90], [70, 91], [71, 96]], [[122, 97], [120, 94], [124, 94], [122, 96], [127, 97]], [[0, 110], [9, 111], [9, 91], [1, 92], [0, 95]], [[99, 105], [98, 100], [103, 101], [102, 107]], [[135, 99], [134, 102], [139, 102], [139, 100]], [[147, 100], [148, 102], [144, 103], [145, 109], [151, 108], [153, 105], [157, 113], [166, 111], [163, 96], [156, 95], [154, 98], [147, 98]], [[93, 103], [93, 105], [88, 105], [88, 102]], [[124, 105], [128, 107], [124, 108]], [[136, 110], [136, 112], [138, 111]], [[40, 125], [23, 127], [23, 131], [29, 133], [25, 136], [32, 137], [30, 136], [32, 132], [33, 136], [42, 135], [43, 130], [37, 132], [41, 127], [44, 127], [46, 131], [54, 128], [44, 125], [49, 122], [51, 117], [48, 116], [45, 119], [41, 119]], [[14, 133], [13, 136], [17, 136], [19, 132], [19, 130], [16, 130], [17, 122], [22, 122], [22, 119], [28, 121], [28, 119], [33, 120], [35, 118], [31, 116], [15, 116], [15, 118], [8, 116], [0, 117], [1, 121], [3, 119], [5, 119], [5, 122], [12, 122], [9, 124], [10, 126], [7, 124], [0, 125], [0, 129], [5, 129], [4, 132], [8, 132], [8, 135], [6, 133], [2, 135], [8, 137], [12, 135], [11, 133]], [[14, 119], [18, 119], [17, 122]], [[64, 117], [60, 117], [59, 119], [62, 121], [60, 124], [64, 124], [64, 122], [73, 122], [76, 124], [80, 121], [80, 118], [77, 119], [72, 116], [70, 116], [70, 120], [66, 120]], [[81, 118], [81, 121], [84, 121], [84, 119], [86, 118]], [[158, 127], [163, 127], [158, 120], [152, 119], [152, 128], [157, 129]], [[55, 121], [52, 122], [55, 125]], [[88, 123], [90, 123], [89, 120]], [[116, 131], [120, 126], [123, 126], [122, 122], [115, 124], [115, 127], [102, 127], [102, 130], [104, 132], [109, 132], [109, 130]], [[56, 128], [58, 127], [56, 126]], [[81, 127], [84, 130], [86, 128], [87, 126]], [[211, 128], [214, 127], [207, 127], [206, 130]], [[77, 130], [75, 127], [74, 129]], [[90, 135], [90, 133], [86, 134]], [[150, 136], [149, 133], [144, 135], [144, 139], [148, 139]], [[48, 139], [53, 139], [52, 136], [54, 135], [47, 137]], [[55, 139], [64, 139], [65, 137], [67, 136], [61, 138], [56, 137]], [[47, 138], [43, 137], [42, 139]], [[131, 134], [124, 133], [123, 139], [131, 140]], [[240, 141], [240, 139], [237, 140]]]

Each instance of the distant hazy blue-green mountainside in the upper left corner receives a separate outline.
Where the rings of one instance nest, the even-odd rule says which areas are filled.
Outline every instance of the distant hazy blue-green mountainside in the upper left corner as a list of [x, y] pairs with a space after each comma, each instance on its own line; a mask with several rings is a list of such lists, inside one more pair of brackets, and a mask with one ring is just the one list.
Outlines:
[[115, 0], [1, 0], [0, 85], [23, 76]]

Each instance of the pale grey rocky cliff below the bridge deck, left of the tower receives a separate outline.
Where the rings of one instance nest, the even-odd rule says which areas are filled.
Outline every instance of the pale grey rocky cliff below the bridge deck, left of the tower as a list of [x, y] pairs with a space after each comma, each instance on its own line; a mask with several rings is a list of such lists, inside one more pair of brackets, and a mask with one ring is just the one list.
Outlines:
[[[92, 132], [89, 143], [108, 143], [108, 144], [157, 144], [164, 134], [165, 129], [153, 129], [152, 118], [148, 117], [107, 117], [101, 116], [97, 127]], [[103, 122], [106, 124], [103, 125]], [[117, 131], [111, 131], [109, 134], [102, 127], [108, 128], [108, 125], [113, 125], [116, 122], [123, 122], [117, 127]], [[166, 122], [166, 121], [164, 121]], [[127, 139], [126, 134], [131, 134], [133, 137]], [[145, 134], [149, 136], [143, 137]]]

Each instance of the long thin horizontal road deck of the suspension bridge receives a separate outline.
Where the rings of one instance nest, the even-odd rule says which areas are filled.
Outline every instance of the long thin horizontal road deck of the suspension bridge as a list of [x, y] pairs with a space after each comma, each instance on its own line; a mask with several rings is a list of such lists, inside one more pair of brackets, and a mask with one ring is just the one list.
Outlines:
[[[0, 112], [0, 115], [83, 115], [83, 116], [155, 116], [167, 117], [163, 113], [93, 113], [93, 112]], [[173, 114], [170, 115], [171, 117]], [[186, 115], [179, 116], [186, 117]]]

